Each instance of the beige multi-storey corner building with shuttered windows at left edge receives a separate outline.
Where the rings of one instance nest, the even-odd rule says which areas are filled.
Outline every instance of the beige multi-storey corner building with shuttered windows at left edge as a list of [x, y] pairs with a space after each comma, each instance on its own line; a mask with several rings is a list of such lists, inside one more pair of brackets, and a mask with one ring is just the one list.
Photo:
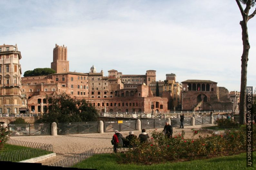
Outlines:
[[0, 113], [17, 114], [22, 105], [21, 53], [17, 45], [0, 46]]

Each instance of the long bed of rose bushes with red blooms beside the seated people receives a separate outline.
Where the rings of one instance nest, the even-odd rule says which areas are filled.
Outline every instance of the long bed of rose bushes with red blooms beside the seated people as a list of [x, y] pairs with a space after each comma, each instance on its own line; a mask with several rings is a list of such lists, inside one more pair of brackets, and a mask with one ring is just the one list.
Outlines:
[[[148, 143], [139, 144], [125, 153], [122, 157], [123, 163], [151, 164], [180, 159], [195, 159], [212, 157], [217, 155], [234, 154], [246, 149], [246, 127], [241, 126], [238, 130], [228, 130], [221, 135], [198, 135], [197, 130], [193, 130], [191, 139], [184, 139], [185, 132], [167, 138], [162, 132], [153, 131], [152, 138]], [[253, 125], [256, 131], [256, 124]], [[256, 142], [256, 133], [253, 142]], [[253, 149], [255, 150], [255, 146]]]

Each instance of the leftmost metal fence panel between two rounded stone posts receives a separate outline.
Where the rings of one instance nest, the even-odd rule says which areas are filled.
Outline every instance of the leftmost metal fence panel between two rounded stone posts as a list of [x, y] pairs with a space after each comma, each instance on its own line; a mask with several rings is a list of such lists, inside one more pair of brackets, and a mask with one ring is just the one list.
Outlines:
[[8, 124], [10, 136], [51, 135], [50, 123]]

